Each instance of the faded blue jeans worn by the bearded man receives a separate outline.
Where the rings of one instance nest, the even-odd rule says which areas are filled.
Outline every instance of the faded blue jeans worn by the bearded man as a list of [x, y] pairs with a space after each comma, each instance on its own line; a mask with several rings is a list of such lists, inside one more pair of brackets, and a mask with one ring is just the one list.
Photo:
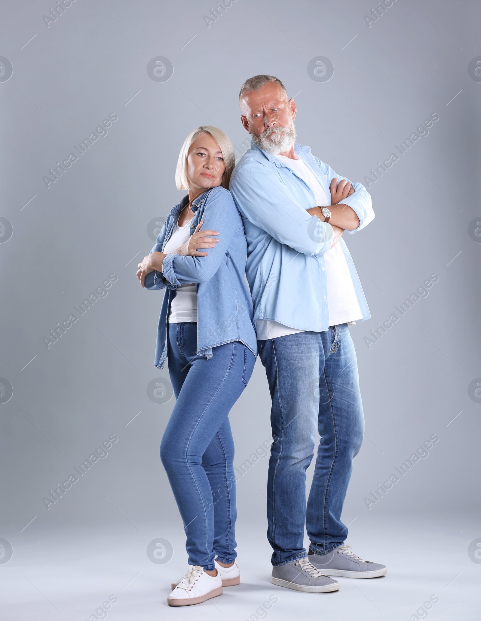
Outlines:
[[[347, 324], [258, 341], [272, 397], [267, 538], [274, 566], [342, 545], [341, 512], [364, 435], [356, 351]], [[321, 437], [307, 509], [305, 471]]]

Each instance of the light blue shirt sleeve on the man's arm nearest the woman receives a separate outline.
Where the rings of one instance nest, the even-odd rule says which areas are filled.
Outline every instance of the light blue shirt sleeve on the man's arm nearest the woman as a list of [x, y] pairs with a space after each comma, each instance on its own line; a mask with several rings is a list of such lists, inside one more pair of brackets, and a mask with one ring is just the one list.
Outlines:
[[230, 191], [241, 214], [279, 243], [308, 256], [330, 249], [331, 225], [308, 214], [267, 166], [245, 161], [235, 170]]

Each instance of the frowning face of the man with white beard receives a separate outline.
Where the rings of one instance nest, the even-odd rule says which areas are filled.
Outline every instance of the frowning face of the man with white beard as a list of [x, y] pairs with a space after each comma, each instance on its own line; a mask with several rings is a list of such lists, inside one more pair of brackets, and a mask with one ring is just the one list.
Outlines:
[[279, 84], [269, 82], [258, 91], [248, 91], [241, 100], [241, 109], [241, 122], [259, 147], [274, 155], [292, 147], [296, 107]]

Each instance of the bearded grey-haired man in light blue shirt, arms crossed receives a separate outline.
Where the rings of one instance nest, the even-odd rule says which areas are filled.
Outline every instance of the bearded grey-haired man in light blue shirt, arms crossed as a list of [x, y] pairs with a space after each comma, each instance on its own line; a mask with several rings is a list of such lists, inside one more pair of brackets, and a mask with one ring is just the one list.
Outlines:
[[[267, 479], [271, 581], [296, 591], [335, 591], [339, 582], [327, 576], [387, 572], [344, 545], [348, 529], [341, 522], [364, 430], [348, 325], [370, 317], [341, 235], [371, 222], [371, 196], [360, 183], [338, 183], [309, 147], [295, 143], [296, 106], [279, 79], [248, 79], [239, 102], [253, 145], [230, 190], [245, 225], [246, 276], [277, 437]], [[306, 509], [316, 425], [321, 440]]]

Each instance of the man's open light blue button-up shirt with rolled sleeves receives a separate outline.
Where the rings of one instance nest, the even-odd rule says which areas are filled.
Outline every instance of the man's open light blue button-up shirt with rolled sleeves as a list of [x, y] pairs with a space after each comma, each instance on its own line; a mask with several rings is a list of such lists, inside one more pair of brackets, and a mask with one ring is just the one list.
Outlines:
[[[309, 147], [294, 145], [330, 200], [330, 183], [337, 175], [313, 156]], [[349, 181], [349, 179], [348, 179]], [[343, 204], [351, 207], [363, 229], [372, 219], [371, 196], [361, 183]], [[323, 255], [333, 242], [333, 228], [306, 209], [315, 205], [307, 183], [279, 158], [253, 144], [236, 166], [230, 191], [240, 211], [247, 238], [246, 276], [254, 302], [253, 323], [276, 321], [297, 330], [323, 332], [329, 327], [327, 278]], [[371, 317], [359, 276], [343, 238], [362, 319]]]

